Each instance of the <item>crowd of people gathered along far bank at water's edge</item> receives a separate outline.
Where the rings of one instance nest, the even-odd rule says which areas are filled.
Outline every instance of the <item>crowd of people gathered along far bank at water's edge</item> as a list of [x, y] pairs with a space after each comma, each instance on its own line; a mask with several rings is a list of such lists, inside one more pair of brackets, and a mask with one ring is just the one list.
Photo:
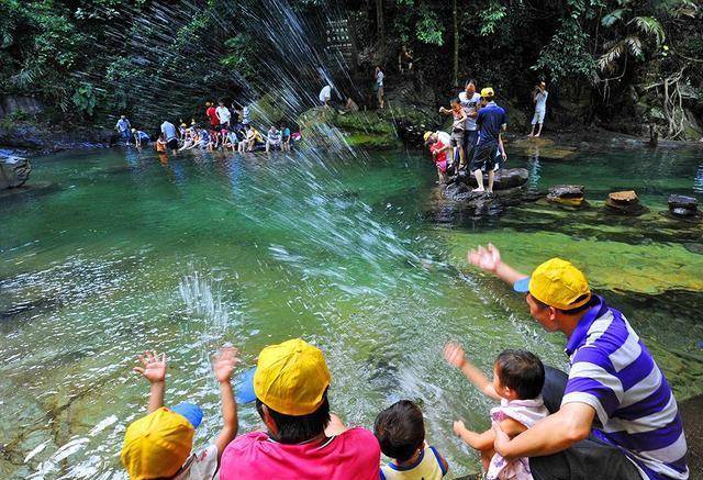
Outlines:
[[[234, 119], [233, 116], [236, 115]], [[154, 142], [154, 147], [159, 153], [193, 148], [214, 150], [232, 150], [238, 153], [255, 150], [282, 150], [290, 152], [292, 145], [300, 139], [300, 133], [291, 132], [290, 126], [283, 122], [272, 124], [264, 134], [252, 124], [252, 114], [248, 107], [232, 104], [232, 110], [219, 101], [217, 107], [213, 102], [205, 102], [205, 122], [199, 123], [194, 119], [190, 125], [180, 122], [177, 127], [168, 120], [160, 125], [160, 131]], [[137, 148], [144, 148], [152, 143], [153, 136], [143, 130], [132, 127], [125, 115], [121, 115], [115, 125], [120, 137], [125, 145], [134, 143]]]

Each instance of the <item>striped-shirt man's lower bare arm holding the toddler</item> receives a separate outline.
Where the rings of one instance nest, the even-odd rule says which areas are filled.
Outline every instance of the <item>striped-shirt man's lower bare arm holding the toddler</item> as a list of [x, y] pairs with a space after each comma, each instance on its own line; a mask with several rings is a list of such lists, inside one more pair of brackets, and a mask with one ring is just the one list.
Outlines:
[[495, 423], [495, 451], [505, 459], [542, 457], [565, 450], [589, 436], [595, 410], [585, 403], [567, 403], [512, 440]]

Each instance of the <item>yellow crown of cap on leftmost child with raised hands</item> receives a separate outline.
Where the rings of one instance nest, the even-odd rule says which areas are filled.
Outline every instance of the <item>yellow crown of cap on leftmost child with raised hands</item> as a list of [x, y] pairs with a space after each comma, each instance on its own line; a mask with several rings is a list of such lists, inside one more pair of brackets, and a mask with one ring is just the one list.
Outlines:
[[196, 428], [165, 406], [134, 421], [124, 434], [122, 464], [132, 480], [172, 477], [188, 460]]

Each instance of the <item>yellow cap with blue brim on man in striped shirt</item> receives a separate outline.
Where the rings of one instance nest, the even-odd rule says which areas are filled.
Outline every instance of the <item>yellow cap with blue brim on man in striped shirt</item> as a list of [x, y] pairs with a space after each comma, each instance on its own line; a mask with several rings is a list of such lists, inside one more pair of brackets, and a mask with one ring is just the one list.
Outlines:
[[513, 286], [517, 292], [529, 292], [535, 299], [559, 310], [578, 309], [591, 300], [585, 276], [561, 258], [545, 261]]

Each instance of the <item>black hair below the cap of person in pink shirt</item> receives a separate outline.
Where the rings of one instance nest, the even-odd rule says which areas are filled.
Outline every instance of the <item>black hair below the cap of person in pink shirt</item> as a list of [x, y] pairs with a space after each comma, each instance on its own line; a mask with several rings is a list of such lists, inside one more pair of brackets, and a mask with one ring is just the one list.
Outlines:
[[[256, 411], [259, 416], [264, 418], [264, 403], [256, 399]], [[266, 405], [268, 414], [276, 422], [278, 434], [276, 435], [276, 442], [281, 444], [300, 444], [301, 442], [309, 440], [322, 432], [330, 425], [330, 401], [327, 400], [327, 391], [322, 398], [322, 404], [312, 413], [306, 415], [286, 415], [279, 413]]]

